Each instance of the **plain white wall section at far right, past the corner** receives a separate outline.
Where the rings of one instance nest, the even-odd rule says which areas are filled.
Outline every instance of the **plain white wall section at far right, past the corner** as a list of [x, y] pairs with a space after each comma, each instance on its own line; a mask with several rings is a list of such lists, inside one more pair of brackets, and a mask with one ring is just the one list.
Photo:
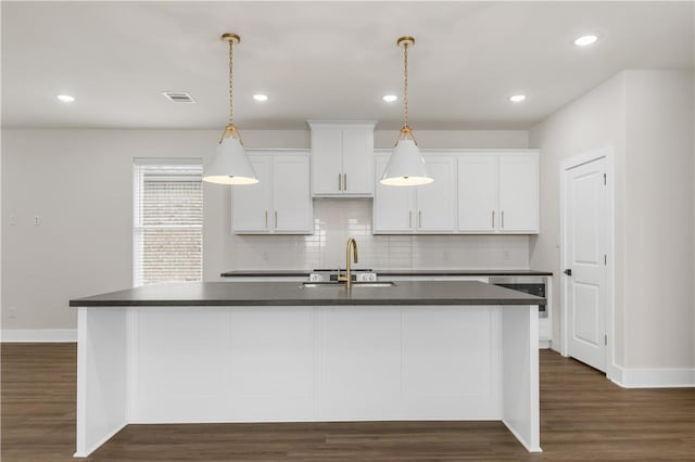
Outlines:
[[695, 367], [693, 73], [626, 73], [627, 368]]

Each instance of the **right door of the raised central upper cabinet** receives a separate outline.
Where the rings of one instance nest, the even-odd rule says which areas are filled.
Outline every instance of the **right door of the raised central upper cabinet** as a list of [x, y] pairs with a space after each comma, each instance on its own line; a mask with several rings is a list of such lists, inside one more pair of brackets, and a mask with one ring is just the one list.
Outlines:
[[374, 184], [374, 131], [343, 129], [343, 193], [372, 195]]

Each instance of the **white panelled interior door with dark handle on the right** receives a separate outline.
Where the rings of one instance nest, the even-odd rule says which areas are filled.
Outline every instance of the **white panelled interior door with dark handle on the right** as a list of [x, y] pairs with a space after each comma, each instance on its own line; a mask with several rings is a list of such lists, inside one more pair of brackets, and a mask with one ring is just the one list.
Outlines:
[[568, 352], [606, 371], [605, 157], [565, 171]]

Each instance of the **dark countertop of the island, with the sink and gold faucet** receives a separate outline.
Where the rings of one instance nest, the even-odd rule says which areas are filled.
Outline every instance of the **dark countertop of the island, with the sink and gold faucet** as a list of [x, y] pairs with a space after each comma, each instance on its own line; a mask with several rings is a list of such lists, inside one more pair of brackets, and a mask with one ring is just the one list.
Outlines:
[[545, 305], [545, 298], [477, 281], [407, 281], [392, 287], [299, 282], [155, 284], [70, 300], [71, 307], [344, 305]]

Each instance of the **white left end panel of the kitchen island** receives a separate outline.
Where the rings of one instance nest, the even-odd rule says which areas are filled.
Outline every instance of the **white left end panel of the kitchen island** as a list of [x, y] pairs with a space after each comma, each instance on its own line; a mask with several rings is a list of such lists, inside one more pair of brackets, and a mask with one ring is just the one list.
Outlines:
[[127, 424], [127, 308], [77, 310], [76, 458]]

